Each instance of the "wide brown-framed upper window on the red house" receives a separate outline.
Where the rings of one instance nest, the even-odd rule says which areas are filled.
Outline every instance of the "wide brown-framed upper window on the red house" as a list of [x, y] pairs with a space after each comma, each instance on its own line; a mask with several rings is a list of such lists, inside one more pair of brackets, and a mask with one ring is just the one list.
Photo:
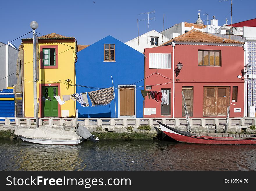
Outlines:
[[221, 66], [221, 51], [198, 51], [198, 66]]

